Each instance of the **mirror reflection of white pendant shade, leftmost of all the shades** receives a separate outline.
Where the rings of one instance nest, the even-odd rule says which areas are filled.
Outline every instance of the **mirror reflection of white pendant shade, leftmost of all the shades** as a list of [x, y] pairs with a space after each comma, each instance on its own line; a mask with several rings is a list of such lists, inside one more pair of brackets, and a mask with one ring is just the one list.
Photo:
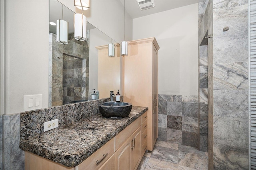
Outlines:
[[57, 43], [68, 44], [68, 22], [59, 19], [56, 23]]

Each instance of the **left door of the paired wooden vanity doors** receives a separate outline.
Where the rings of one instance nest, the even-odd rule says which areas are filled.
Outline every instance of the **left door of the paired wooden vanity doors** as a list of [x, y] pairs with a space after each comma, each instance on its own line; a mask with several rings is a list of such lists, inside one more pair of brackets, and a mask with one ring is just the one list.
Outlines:
[[115, 169], [132, 169], [132, 137], [129, 137], [124, 144], [115, 152]]

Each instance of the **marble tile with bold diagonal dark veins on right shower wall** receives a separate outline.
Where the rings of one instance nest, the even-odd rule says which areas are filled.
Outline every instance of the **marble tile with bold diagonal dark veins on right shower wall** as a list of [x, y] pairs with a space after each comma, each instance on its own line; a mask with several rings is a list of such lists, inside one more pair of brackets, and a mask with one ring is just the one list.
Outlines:
[[248, 90], [248, 63], [214, 64], [214, 90]]

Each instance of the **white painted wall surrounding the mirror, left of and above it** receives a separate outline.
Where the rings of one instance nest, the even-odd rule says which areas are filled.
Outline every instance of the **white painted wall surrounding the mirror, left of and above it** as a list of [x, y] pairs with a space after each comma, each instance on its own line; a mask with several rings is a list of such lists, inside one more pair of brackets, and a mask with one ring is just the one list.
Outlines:
[[[74, 0], [59, 1], [66, 4], [68, 8], [75, 9]], [[4, 65], [1, 81], [4, 82], [4, 87], [1, 87], [3, 88], [1, 114], [24, 111], [24, 95], [30, 94], [42, 94], [42, 106], [46, 108], [49, 94], [49, 1], [7, 0], [4, 2], [5, 47], [1, 49], [1, 51], [4, 50], [4, 56], [1, 55], [1, 65]], [[115, 41], [123, 41], [122, 3], [119, 0], [91, 0], [90, 2], [90, 10], [84, 13], [88, 21]], [[126, 41], [129, 41], [132, 40], [132, 19], [128, 15], [126, 19]]]

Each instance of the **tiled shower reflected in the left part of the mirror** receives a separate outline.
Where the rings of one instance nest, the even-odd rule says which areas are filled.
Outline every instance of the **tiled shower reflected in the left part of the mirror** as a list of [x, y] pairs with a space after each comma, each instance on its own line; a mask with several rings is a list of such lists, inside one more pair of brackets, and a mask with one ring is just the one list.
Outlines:
[[70, 34], [63, 45], [49, 34], [49, 107], [88, 100], [89, 30], [86, 38], [76, 41]]

